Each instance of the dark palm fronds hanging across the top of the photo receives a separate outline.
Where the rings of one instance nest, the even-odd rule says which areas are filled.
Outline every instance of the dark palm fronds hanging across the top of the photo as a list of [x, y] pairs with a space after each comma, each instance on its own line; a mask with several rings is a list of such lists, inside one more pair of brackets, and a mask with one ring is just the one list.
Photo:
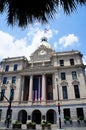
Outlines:
[[6, 11], [9, 25], [26, 27], [34, 20], [47, 23], [59, 7], [70, 14], [78, 5], [85, 4], [86, 0], [0, 0], [0, 13]]

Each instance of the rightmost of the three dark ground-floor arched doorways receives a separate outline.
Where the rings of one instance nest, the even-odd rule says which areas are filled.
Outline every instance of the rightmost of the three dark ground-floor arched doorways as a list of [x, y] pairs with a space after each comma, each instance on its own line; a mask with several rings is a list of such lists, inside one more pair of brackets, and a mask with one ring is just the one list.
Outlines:
[[53, 109], [47, 111], [46, 120], [52, 124], [56, 123], [56, 112]]

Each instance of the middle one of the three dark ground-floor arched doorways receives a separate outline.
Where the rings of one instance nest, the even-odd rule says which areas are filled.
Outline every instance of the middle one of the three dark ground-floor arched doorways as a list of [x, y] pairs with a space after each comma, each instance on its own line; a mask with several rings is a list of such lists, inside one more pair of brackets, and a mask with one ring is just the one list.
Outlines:
[[39, 110], [32, 112], [32, 121], [36, 122], [36, 124], [41, 124], [41, 112]]

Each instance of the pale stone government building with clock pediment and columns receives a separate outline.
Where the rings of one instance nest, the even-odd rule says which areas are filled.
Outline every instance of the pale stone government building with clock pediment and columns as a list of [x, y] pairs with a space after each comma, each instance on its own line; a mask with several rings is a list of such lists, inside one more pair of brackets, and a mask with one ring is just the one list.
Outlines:
[[[29, 51], [29, 50], [28, 50]], [[43, 37], [30, 56], [1, 61], [0, 91], [9, 99], [11, 119], [26, 124], [47, 120], [64, 125], [64, 118], [86, 119], [86, 75], [82, 54], [78, 50], [55, 52]], [[0, 99], [0, 122], [6, 120], [9, 103]], [[59, 105], [59, 106], [58, 106]], [[60, 115], [59, 111], [60, 109]]]

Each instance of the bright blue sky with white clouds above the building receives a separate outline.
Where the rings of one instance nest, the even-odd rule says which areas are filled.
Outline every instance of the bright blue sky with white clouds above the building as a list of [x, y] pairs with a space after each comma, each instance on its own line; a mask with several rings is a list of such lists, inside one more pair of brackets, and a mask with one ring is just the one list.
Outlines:
[[[0, 14], [0, 61], [3, 58], [29, 56], [46, 36], [56, 52], [78, 50], [86, 64], [86, 6], [80, 6], [70, 15], [59, 10], [47, 24], [34, 21], [26, 28], [8, 26], [6, 14]], [[45, 29], [47, 32], [45, 33]]]

